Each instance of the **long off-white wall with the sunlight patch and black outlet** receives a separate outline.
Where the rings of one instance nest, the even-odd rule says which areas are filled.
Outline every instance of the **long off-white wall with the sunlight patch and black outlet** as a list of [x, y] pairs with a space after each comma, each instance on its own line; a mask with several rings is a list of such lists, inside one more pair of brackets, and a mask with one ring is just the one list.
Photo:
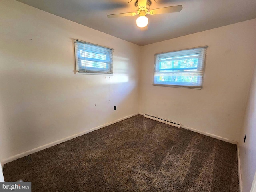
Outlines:
[[[15, 0], [0, 1], [0, 24], [3, 163], [138, 113], [140, 46]], [[114, 48], [114, 75], [76, 75], [73, 38]]]

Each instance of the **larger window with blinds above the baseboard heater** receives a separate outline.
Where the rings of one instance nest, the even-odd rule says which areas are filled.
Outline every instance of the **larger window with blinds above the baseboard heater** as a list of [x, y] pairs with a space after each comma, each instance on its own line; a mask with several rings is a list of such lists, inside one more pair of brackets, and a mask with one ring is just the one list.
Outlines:
[[202, 89], [206, 48], [155, 54], [155, 86]]

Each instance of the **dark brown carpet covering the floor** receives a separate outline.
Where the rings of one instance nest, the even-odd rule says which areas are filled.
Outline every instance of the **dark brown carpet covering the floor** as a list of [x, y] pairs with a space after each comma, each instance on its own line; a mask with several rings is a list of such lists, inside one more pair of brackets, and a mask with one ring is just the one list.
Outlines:
[[236, 145], [141, 115], [4, 165], [32, 192], [238, 192]]

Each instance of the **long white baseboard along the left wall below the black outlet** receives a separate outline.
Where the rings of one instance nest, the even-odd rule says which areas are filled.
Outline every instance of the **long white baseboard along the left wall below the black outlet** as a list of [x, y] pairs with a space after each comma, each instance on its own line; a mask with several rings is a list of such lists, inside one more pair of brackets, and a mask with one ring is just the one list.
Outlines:
[[24, 156], [30, 155], [30, 154], [32, 154], [32, 153], [35, 153], [35, 152], [38, 152], [38, 151], [41, 151], [41, 150], [44, 150], [44, 149], [46, 149], [46, 148], [49, 148], [49, 147], [52, 147], [52, 146], [54, 146], [54, 145], [63, 143], [63, 142], [65, 142], [65, 141], [71, 140], [71, 139], [73, 139], [73, 138], [79, 137], [79, 136], [81, 136], [81, 135], [87, 134], [87, 133], [89, 133], [89, 132], [98, 130], [98, 129], [103, 128], [103, 127], [106, 127], [106, 126], [109, 126], [109, 125], [111, 125], [111, 124], [114, 124], [114, 123], [116, 123], [116, 122], [125, 120], [125, 119], [127, 119], [127, 118], [130, 118], [130, 117], [133, 117], [133, 116], [136, 116], [136, 115], [138, 115], [138, 113], [135, 113], [135, 114], [132, 114], [132, 115], [129, 115], [129, 116], [120, 118], [120, 119], [118, 119], [118, 120], [109, 122], [109, 123], [104, 124], [104, 125], [100, 125], [100, 126], [98, 126], [98, 127], [94, 127], [94, 128], [92, 128], [92, 129], [90, 129], [90, 130], [86, 130], [86, 131], [80, 132], [80, 133], [78, 133], [78, 134], [74, 134], [74, 135], [68, 136], [68, 137], [66, 137], [66, 138], [63, 138], [63, 139], [60, 139], [60, 140], [57, 140], [57, 141], [48, 143], [48, 144], [46, 144], [46, 145], [43, 145], [43, 146], [34, 148], [34, 149], [32, 149], [32, 150], [28, 150], [28, 151], [26, 151], [26, 152], [23, 152], [23, 153], [14, 155], [14, 156], [12, 156], [12, 157], [9, 157], [9, 158], [7, 158], [7, 159], [2, 160], [2, 167], [4, 166], [4, 164], [9, 163], [9, 162], [12, 162], [12, 161], [14, 161], [14, 160], [16, 160], [16, 159], [22, 158], [22, 157], [24, 157]]

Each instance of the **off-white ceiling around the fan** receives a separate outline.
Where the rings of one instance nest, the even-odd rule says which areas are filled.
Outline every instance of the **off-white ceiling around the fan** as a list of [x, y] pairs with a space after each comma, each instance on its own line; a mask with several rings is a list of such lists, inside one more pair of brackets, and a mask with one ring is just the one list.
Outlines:
[[182, 5], [178, 13], [147, 14], [148, 30], [136, 26], [136, 0], [17, 0], [54, 15], [143, 46], [256, 18], [256, 0], [151, 0], [150, 9]]

